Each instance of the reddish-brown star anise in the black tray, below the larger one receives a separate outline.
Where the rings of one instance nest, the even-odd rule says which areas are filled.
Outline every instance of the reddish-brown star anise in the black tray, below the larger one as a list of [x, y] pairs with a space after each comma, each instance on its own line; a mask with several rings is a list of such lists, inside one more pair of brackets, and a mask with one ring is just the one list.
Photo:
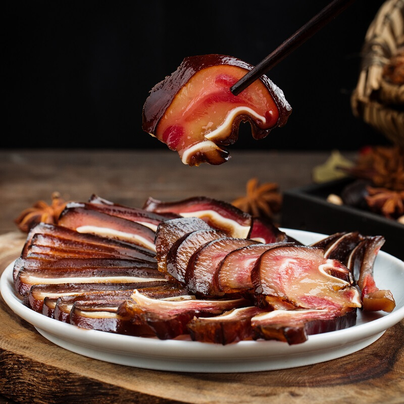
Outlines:
[[369, 195], [366, 201], [369, 208], [389, 219], [404, 215], [404, 191], [392, 191], [386, 188], [367, 187]]

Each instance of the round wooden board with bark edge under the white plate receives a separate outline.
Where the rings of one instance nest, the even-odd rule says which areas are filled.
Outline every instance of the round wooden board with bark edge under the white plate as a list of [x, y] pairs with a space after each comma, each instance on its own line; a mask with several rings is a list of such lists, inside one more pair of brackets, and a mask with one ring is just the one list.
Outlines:
[[[24, 236], [0, 236], [0, 271]], [[402, 403], [404, 321], [350, 356], [256, 373], [179, 373], [86, 358], [43, 338], [0, 298], [0, 394], [30, 403]]]

